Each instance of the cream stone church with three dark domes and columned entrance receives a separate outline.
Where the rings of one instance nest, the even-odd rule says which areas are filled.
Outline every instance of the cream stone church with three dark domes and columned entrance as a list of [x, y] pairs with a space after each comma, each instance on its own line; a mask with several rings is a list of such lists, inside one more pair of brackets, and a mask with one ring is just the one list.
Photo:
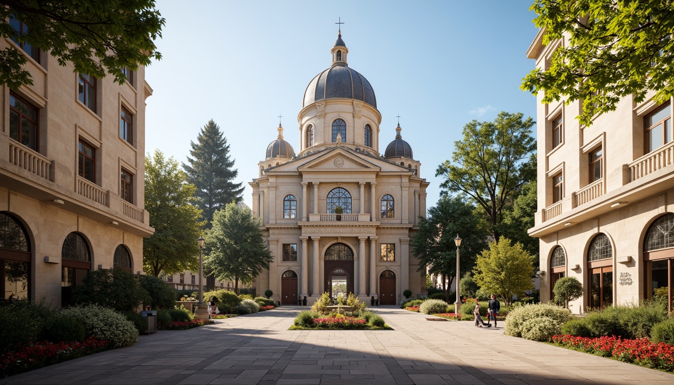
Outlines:
[[279, 125], [249, 183], [253, 215], [262, 218], [274, 257], [255, 287], [259, 294], [271, 289], [272, 298], [288, 305], [304, 297], [311, 305], [326, 292], [393, 305], [406, 289], [425, 290], [409, 242], [425, 216], [429, 183], [400, 124], [379, 155], [375, 92], [348, 67], [341, 33], [331, 53], [332, 65], [304, 94], [299, 152]]

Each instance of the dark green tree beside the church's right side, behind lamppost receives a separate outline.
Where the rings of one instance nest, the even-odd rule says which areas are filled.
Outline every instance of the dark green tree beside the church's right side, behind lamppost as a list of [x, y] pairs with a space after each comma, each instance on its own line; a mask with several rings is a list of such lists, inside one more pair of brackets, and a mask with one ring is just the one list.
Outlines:
[[419, 231], [410, 240], [412, 254], [419, 260], [418, 271], [442, 276], [445, 296], [456, 277], [456, 235], [462, 238], [459, 255], [463, 272], [472, 270], [475, 256], [486, 245], [487, 231], [474, 209], [460, 197], [443, 196], [437, 206], [429, 208], [426, 218], [419, 218]]

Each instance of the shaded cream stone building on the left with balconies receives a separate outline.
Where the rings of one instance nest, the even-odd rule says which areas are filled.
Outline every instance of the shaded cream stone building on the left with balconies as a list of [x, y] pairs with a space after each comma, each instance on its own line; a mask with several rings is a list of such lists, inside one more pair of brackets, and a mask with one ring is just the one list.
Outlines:
[[[0, 49], [18, 47], [0, 40]], [[56, 305], [88, 270], [143, 270], [145, 69], [94, 79], [30, 46], [32, 86], [0, 92], [3, 301]]]

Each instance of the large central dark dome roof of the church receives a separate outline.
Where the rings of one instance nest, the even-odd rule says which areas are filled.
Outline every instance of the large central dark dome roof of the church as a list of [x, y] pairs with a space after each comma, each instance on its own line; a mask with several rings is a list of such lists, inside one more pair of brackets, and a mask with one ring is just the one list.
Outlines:
[[319, 73], [304, 92], [304, 104], [330, 98], [350, 98], [361, 100], [377, 108], [377, 98], [365, 76], [338, 62]]

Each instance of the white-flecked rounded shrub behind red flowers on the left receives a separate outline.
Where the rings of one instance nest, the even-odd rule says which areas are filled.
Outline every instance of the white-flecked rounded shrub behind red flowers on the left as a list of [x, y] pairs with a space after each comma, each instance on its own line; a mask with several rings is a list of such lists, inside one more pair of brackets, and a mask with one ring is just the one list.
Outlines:
[[110, 347], [133, 345], [138, 330], [124, 316], [99, 305], [69, 307], [61, 310], [61, 316], [82, 322], [87, 336], [110, 341]]

